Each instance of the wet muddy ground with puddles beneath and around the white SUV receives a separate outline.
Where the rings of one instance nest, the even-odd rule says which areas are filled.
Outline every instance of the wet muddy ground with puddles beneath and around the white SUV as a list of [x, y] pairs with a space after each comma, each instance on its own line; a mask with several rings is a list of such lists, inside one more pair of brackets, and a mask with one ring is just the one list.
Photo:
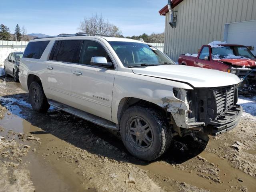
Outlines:
[[255, 192], [255, 116], [245, 111], [205, 149], [189, 137], [175, 139], [148, 163], [100, 126], [55, 108], [33, 111], [20, 84], [0, 78], [0, 191]]

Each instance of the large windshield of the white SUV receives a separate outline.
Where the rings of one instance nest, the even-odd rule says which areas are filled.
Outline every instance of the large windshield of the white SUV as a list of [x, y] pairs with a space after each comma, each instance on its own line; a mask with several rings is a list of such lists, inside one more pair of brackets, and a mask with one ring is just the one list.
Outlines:
[[175, 64], [156, 48], [137, 42], [109, 42], [125, 67]]

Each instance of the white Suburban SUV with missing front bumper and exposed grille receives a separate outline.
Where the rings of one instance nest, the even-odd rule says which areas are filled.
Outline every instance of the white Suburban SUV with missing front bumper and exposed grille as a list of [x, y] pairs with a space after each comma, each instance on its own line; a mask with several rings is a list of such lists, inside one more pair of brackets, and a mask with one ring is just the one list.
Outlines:
[[136, 40], [55, 36], [31, 40], [20, 83], [32, 108], [50, 105], [120, 131], [127, 150], [154, 160], [173, 136], [207, 140], [234, 128], [242, 114], [234, 74], [176, 65]]

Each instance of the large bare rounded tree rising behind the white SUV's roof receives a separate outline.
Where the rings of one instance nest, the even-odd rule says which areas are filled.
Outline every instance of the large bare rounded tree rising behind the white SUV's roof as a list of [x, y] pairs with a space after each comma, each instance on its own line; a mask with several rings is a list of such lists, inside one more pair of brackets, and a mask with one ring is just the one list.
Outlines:
[[120, 28], [115, 26], [114, 24], [105, 20], [102, 15], [94, 14], [90, 18], [84, 18], [83, 21], [80, 22], [80, 26], [78, 28], [81, 32], [87, 33], [91, 36], [96, 36], [96, 34], [118, 37], [122, 35], [122, 31]]

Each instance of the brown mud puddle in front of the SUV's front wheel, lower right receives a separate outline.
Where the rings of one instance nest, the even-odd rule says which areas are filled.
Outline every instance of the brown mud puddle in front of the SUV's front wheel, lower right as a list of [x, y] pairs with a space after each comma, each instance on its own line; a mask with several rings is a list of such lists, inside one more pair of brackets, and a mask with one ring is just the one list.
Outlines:
[[[199, 155], [208, 160], [208, 162], [205, 163], [216, 165], [216, 169], [213, 168], [212, 170], [218, 172], [220, 178], [219, 181], [217, 180], [217, 182], [214, 182], [210, 180], [210, 178], [207, 178], [207, 174], [201, 173], [200, 171], [187, 171], [175, 165], [166, 165], [161, 162], [138, 165], [138, 167], [150, 171], [150, 174], [159, 177], [162, 183], [166, 183], [170, 180], [178, 180], [209, 191], [241, 191], [243, 186], [246, 186], [248, 191], [255, 191], [255, 178], [240, 170], [232, 168], [227, 160], [221, 160], [216, 155], [207, 152], [202, 152]], [[190, 160], [186, 163], [193, 164], [195, 162], [194, 160]]]

